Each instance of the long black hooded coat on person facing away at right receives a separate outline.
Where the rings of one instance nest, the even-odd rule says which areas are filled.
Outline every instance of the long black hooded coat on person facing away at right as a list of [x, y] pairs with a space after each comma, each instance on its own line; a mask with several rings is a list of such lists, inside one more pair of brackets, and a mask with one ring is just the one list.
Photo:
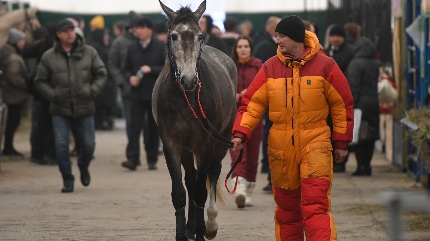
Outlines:
[[346, 70], [346, 77], [354, 98], [354, 108], [363, 111], [362, 119], [369, 123], [374, 140], [379, 139], [379, 99], [377, 83], [379, 65], [375, 60], [376, 45], [361, 37], [355, 42], [354, 58]]

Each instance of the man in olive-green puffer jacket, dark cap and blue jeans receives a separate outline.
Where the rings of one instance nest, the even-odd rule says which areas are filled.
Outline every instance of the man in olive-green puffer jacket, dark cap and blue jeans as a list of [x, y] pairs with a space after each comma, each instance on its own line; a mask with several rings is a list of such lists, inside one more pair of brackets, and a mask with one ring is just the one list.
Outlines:
[[71, 21], [59, 21], [56, 30], [53, 48], [43, 54], [37, 67], [35, 85], [51, 102], [55, 152], [64, 182], [61, 191], [69, 193], [74, 190], [69, 132], [74, 129], [74, 139], [80, 147], [80, 181], [88, 186], [88, 167], [95, 149], [94, 99], [106, 84], [107, 71], [97, 51], [76, 35]]

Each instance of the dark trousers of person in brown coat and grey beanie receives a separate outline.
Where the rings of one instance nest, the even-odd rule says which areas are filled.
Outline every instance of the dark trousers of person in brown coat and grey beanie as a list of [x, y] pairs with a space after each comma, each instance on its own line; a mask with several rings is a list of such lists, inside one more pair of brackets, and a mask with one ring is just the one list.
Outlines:
[[6, 130], [4, 132], [4, 149], [12, 150], [13, 137], [21, 123], [21, 110], [22, 104], [7, 104], [7, 122]]

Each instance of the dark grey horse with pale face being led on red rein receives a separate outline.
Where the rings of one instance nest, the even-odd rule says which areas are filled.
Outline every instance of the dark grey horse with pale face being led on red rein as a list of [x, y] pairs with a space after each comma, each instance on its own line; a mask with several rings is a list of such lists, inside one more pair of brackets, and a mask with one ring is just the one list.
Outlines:
[[[206, 1], [195, 12], [189, 6], [174, 12], [161, 1], [160, 4], [170, 24], [166, 42], [169, 57], [153, 89], [152, 111], [172, 181], [175, 238], [176, 241], [194, 238], [204, 241], [204, 237], [213, 239], [218, 231], [216, 192], [220, 190], [217, 182], [221, 161], [228, 150], [227, 145], [218, 143], [219, 138], [215, 141], [211, 136], [230, 140], [237, 110], [237, 70], [227, 55], [203, 46], [198, 20], [206, 10]], [[205, 124], [201, 118], [206, 120]], [[210, 125], [214, 128], [210, 129]], [[188, 191], [187, 222], [181, 164]], [[204, 207], [208, 192], [210, 198], [205, 223]]]

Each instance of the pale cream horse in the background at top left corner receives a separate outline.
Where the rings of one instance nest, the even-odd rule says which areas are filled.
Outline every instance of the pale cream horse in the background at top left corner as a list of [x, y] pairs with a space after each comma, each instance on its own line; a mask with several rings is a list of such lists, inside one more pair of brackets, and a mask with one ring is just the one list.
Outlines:
[[2, 13], [0, 15], [0, 48], [7, 42], [10, 28], [23, 31], [27, 43], [33, 42], [34, 30], [41, 26], [36, 12], [37, 8], [30, 7]]

